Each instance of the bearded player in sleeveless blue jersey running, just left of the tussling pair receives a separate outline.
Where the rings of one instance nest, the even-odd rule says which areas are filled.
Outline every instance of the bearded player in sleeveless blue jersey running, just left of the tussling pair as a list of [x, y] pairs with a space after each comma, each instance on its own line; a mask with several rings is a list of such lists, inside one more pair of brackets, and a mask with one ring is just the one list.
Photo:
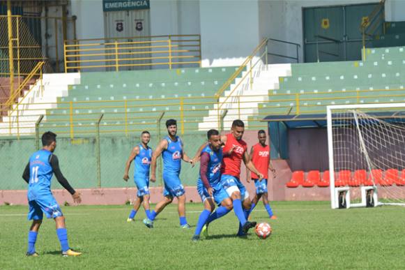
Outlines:
[[190, 228], [185, 218], [185, 190], [178, 178], [181, 170], [181, 160], [190, 163], [194, 167], [194, 160], [189, 158], [184, 151], [183, 141], [177, 134], [177, 122], [174, 119], [166, 121], [168, 135], [165, 139], [161, 140], [156, 147], [152, 156], [151, 164], [151, 181], [156, 181], [156, 160], [160, 155], [163, 158], [163, 181], [165, 183], [165, 190], [163, 196], [165, 197], [161, 202], [156, 204], [155, 210], [151, 212], [151, 216], [144, 219], [146, 227], [153, 227], [153, 220], [155, 220], [158, 213], [160, 213], [168, 204], [173, 202], [173, 198], [178, 199], [178, 216], [180, 218], [180, 227]]

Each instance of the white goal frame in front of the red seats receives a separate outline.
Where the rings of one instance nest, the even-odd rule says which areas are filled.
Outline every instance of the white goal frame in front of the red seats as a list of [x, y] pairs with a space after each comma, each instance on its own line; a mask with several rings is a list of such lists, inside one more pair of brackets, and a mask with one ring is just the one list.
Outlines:
[[[338, 198], [339, 193], [342, 191], [346, 191], [346, 208], [352, 207], [365, 207], [366, 206], [366, 193], [367, 190], [374, 190], [374, 206], [381, 206], [383, 204], [390, 204], [390, 205], [402, 205], [404, 204], [396, 204], [396, 203], [381, 203], [378, 201], [377, 196], [377, 187], [376, 186], [362, 186], [361, 187], [361, 202], [356, 204], [350, 203], [350, 193], [349, 187], [335, 187], [335, 165], [333, 160], [333, 126], [332, 126], [332, 114], [333, 110], [346, 110], [346, 109], [374, 109], [374, 108], [392, 108], [392, 107], [404, 107], [405, 111], [405, 103], [379, 103], [379, 104], [351, 104], [351, 105], [328, 105], [326, 106], [326, 119], [328, 121], [327, 129], [328, 129], [328, 159], [329, 159], [329, 172], [330, 172], [330, 206], [332, 209], [337, 209], [338, 205]], [[360, 139], [361, 140], [361, 139]]]

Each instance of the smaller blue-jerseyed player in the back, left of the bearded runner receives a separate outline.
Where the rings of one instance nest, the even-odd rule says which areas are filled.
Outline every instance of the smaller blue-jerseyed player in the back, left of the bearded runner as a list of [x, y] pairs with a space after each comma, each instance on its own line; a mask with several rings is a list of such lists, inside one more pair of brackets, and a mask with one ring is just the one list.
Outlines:
[[137, 198], [134, 202], [134, 209], [132, 209], [127, 221], [134, 221], [135, 215], [141, 204], [144, 205], [146, 216], [149, 218], [151, 212], [149, 210], [149, 167], [151, 167], [152, 149], [148, 147], [151, 140], [151, 134], [148, 131], [143, 131], [141, 134], [141, 143], [134, 147], [130, 153], [130, 157], [125, 163], [125, 173], [123, 179], [128, 181], [128, 172], [132, 160], [135, 160], [134, 181], [138, 188]]

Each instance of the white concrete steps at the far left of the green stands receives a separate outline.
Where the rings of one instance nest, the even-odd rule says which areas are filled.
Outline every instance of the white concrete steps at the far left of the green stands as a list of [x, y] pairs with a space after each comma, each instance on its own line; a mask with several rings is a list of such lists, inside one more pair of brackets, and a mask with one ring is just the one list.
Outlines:
[[42, 82], [37, 80], [31, 91], [26, 91], [24, 98], [18, 100], [20, 105], [13, 105], [8, 116], [3, 117], [0, 135], [15, 135], [20, 133], [20, 128], [24, 128], [24, 135], [34, 133], [40, 114], [46, 114], [47, 109], [55, 107], [57, 98], [68, 94], [68, 85], [77, 84], [79, 80], [79, 73], [44, 74]]

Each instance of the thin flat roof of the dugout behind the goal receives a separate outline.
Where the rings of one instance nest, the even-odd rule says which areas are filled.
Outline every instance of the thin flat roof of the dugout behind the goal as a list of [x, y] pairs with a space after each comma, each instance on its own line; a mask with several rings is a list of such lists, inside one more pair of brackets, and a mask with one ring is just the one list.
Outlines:
[[[388, 122], [401, 122], [405, 123], [405, 112], [367, 112], [369, 116], [376, 119], [384, 119]], [[332, 114], [334, 117], [335, 114]], [[353, 117], [342, 117], [340, 119], [347, 121], [353, 121]], [[266, 122], [282, 122], [287, 128], [326, 128], [327, 120], [326, 114], [289, 114], [289, 115], [268, 115], [261, 121]], [[361, 119], [360, 119], [361, 121]]]

